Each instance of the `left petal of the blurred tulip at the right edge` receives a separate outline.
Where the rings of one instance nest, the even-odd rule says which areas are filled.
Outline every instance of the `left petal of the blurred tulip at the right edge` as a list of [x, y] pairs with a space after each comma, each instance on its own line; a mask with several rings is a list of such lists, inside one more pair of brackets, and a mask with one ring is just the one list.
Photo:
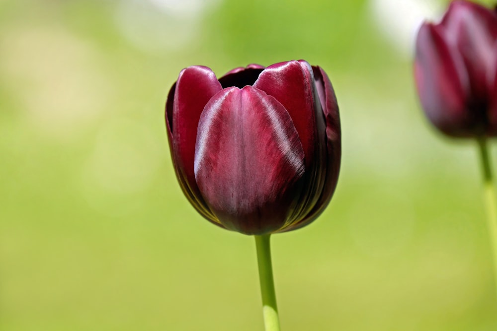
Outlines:
[[469, 80], [457, 50], [439, 27], [423, 24], [416, 39], [414, 76], [421, 105], [442, 132], [471, 136], [478, 123], [468, 111]]

